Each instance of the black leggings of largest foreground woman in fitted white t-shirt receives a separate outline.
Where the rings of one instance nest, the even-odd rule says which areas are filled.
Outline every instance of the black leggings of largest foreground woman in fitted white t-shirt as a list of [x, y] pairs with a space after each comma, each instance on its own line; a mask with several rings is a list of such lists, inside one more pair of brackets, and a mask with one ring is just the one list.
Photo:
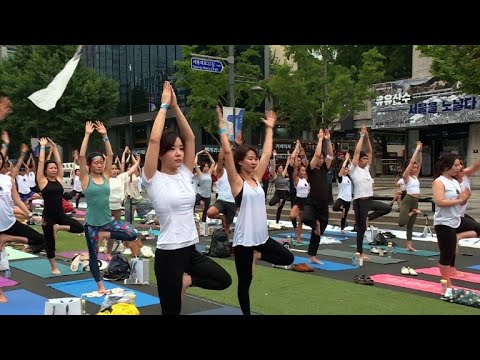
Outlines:
[[224, 290], [232, 285], [230, 274], [195, 245], [176, 250], [155, 251], [155, 277], [162, 315], [179, 315], [182, 309], [183, 274], [192, 277], [192, 285], [209, 290]]

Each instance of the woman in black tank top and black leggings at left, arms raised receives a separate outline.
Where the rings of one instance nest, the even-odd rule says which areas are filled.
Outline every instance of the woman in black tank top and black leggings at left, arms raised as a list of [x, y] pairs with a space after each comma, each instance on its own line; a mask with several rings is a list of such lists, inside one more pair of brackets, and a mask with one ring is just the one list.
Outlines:
[[[45, 162], [45, 146], [50, 144], [54, 160]], [[59, 171], [60, 169], [60, 171]], [[40, 139], [40, 157], [38, 159], [37, 181], [43, 196], [43, 234], [47, 248], [47, 258], [52, 274], [60, 275], [55, 262], [55, 240], [57, 231], [82, 233], [83, 225], [67, 216], [63, 211], [63, 171], [62, 161], [56, 144], [50, 138]]]

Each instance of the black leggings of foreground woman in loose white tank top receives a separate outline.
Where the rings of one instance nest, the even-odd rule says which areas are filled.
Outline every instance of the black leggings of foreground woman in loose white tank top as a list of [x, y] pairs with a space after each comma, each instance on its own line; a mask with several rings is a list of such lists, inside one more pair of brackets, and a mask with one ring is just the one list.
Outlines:
[[[290, 265], [294, 260], [292, 253], [272, 238], [268, 238], [265, 244], [258, 246], [235, 246], [235, 266], [237, 268], [238, 276], [237, 295], [243, 315], [250, 315], [249, 291], [250, 284], [252, 283], [252, 263], [254, 250], [262, 253], [261, 260], [271, 264]], [[157, 258], [155, 258], [155, 261], [156, 259]]]

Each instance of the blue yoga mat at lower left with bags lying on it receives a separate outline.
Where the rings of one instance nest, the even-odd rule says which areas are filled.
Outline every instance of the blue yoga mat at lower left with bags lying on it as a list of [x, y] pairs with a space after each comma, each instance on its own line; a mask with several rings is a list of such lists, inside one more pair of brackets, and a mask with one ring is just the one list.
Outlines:
[[[103, 285], [105, 286], [105, 289], [107, 289], [107, 290], [113, 289], [113, 288], [122, 288], [122, 289], [125, 289], [127, 291], [134, 292], [135, 295], [137, 295], [137, 297], [135, 299], [135, 305], [137, 307], [160, 304], [160, 300], [158, 299], [158, 297], [142, 293], [138, 290], [125, 288], [123, 286], [120, 286], [118, 284], [118, 282], [104, 281]], [[51, 288], [57, 289], [59, 291], [63, 291], [64, 293], [75, 296], [75, 297], [81, 297], [82, 294], [89, 293], [89, 292], [97, 290], [97, 283], [95, 282], [94, 279], [66, 281], [66, 282], [61, 282], [61, 283], [48, 284], [47, 286], [50, 286]], [[98, 298], [87, 298], [87, 297], [85, 297], [84, 299], [87, 300], [87, 301], [90, 301], [94, 304], [102, 305], [102, 302], [103, 302], [104, 298], [105, 297], [102, 296], [102, 297], [98, 297]]]

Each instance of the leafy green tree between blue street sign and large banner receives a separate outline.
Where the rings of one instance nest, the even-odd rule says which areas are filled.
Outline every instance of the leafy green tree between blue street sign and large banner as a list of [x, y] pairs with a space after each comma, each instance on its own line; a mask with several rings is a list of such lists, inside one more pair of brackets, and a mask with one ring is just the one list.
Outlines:
[[288, 120], [296, 137], [365, 110], [365, 101], [375, 97], [371, 85], [384, 77], [384, 56], [376, 49], [362, 54], [359, 68], [337, 64], [337, 49], [330, 45], [290, 45], [285, 54], [297, 69], [275, 63], [267, 87], [279, 118]]

